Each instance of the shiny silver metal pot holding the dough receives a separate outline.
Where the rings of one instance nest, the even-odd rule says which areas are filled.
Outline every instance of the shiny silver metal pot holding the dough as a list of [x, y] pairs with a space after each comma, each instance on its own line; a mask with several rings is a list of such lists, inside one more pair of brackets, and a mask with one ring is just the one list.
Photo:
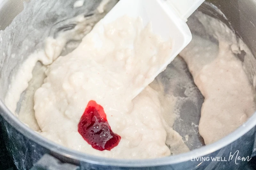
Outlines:
[[[202, 137], [198, 135], [198, 127], [188, 125], [192, 121], [198, 125], [200, 119], [200, 107], [204, 98], [199, 91], [197, 94], [197, 105], [190, 102], [190, 104], [184, 106], [184, 111], [180, 113], [180, 116], [183, 117], [183, 123], [175, 122], [173, 127], [182, 137], [190, 133], [190, 128], [194, 128], [194, 132], [189, 134], [191, 137], [187, 141], [187, 143], [192, 144], [189, 147], [191, 151], [165, 158], [128, 160], [92, 156], [52, 143], [40, 136], [37, 132], [29, 129], [3, 103], [12, 75], [17, 72], [20, 64], [29, 54], [35, 49], [43, 48], [43, 40], [46, 37], [54, 37], [61, 31], [61, 28], [65, 28], [68, 18], [75, 17], [78, 14], [86, 15], [94, 11], [101, 0], [85, 0], [82, 7], [75, 9], [73, 8], [74, 0], [38, 0], [25, 4], [24, 11], [22, 11], [22, 2], [22, 0], [3, 0], [0, 2], [0, 29], [7, 30], [5, 30], [5, 33], [0, 32], [0, 120], [7, 149], [12, 155], [18, 169], [38, 169], [39, 167], [44, 169], [67, 170], [241, 169], [246, 165], [247, 159], [239, 160], [236, 157], [228, 160], [230, 154], [236, 154], [240, 157], [256, 155], [256, 147], [254, 146], [256, 145], [256, 114], [252, 115], [247, 122], [228, 136], [213, 144], [204, 146]], [[116, 1], [114, 0], [110, 1], [108, 10], [115, 3]], [[18, 15], [21, 11], [22, 15]], [[256, 1], [206, 1], [198, 11], [213, 18], [220, 19], [238, 37], [242, 38], [245, 44], [251, 49], [252, 54], [256, 55]], [[95, 14], [96, 17], [88, 21], [88, 23], [95, 24], [104, 15], [105, 13]], [[17, 17], [13, 20], [15, 16]], [[12, 24], [10, 25], [11, 22]], [[198, 24], [195, 15], [188, 18], [188, 25], [192, 33], [198, 33], [198, 30], [203, 30], [200, 28], [204, 27], [202, 23]], [[80, 40], [70, 39], [69, 42], [78, 44]], [[66, 54], [73, 49], [68, 49], [68, 47], [62, 54]], [[244, 53], [243, 51], [239, 57], [243, 58]], [[180, 58], [175, 59], [168, 66], [167, 71], [162, 74], [166, 74], [166, 78], [173, 78], [169, 75], [168, 70], [171, 70], [170, 72], [177, 71], [180, 69], [180, 64], [184, 65], [185, 63]], [[250, 75], [248, 75], [248, 78], [255, 85], [253, 80], [254, 76], [256, 76], [256, 66], [254, 67], [256, 63], [250, 64], [249, 67], [248, 63], [244, 63], [244, 67], [249, 70]], [[184, 72], [180, 74], [184, 74]], [[190, 74], [188, 74], [188, 80], [186, 81], [193, 82]], [[182, 81], [181, 83], [186, 83], [186, 81]], [[173, 86], [177, 87], [177, 85]], [[191, 112], [192, 108], [195, 112]], [[222, 161], [195, 159], [207, 157], [221, 157]]]

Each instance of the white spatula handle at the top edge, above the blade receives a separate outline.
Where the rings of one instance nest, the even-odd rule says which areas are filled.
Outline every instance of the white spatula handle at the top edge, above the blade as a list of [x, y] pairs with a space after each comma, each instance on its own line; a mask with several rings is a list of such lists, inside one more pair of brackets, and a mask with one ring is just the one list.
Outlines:
[[165, 0], [167, 5], [174, 9], [180, 18], [187, 20], [188, 17], [203, 4], [204, 0]]

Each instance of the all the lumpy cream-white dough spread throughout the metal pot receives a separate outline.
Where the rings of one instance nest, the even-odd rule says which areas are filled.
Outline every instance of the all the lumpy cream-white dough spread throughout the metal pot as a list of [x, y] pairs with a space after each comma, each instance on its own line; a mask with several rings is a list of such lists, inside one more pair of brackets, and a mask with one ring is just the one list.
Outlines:
[[[103, 1], [99, 12], [105, 2], [108, 0]], [[197, 17], [201, 21], [209, 19]], [[207, 26], [217, 27], [218, 23], [209, 21]], [[91, 29], [83, 24], [77, 27], [82, 28], [87, 28], [85, 32]], [[223, 26], [218, 29], [223, 31]], [[242, 62], [233, 54], [239, 53], [236, 37], [228, 30], [221, 31], [216, 31], [219, 46], [194, 35], [180, 54], [205, 97], [199, 123], [205, 144], [234, 131], [256, 109], [255, 92]], [[222, 34], [226, 37], [221, 39]], [[175, 97], [165, 95], [161, 85], [152, 84], [159, 91], [147, 86], [133, 99], [141, 86], [153, 81], [150, 78], [172, 51], [171, 41], [164, 42], [154, 35], [150, 24], [143, 28], [140, 18], [124, 16], [106, 26], [99, 22], [73, 52], [59, 56], [65, 43], [63, 37], [48, 38], [45, 51], [29, 56], [12, 78], [5, 98], [12, 113], [29, 85], [17, 115], [21, 121], [60, 145], [98, 156], [148, 159], [189, 151], [172, 129], [177, 118], [172, 110]], [[48, 66], [35, 69], [33, 76], [37, 79], [31, 80], [37, 61]], [[104, 108], [111, 129], [121, 136], [111, 151], [93, 149], [77, 131], [90, 100]]]

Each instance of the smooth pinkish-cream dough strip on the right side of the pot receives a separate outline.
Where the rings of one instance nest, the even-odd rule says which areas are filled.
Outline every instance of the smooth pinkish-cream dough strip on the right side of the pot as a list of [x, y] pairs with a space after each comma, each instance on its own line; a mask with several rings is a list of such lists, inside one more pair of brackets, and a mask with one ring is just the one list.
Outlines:
[[237, 57], [240, 47], [246, 45], [219, 20], [200, 12], [196, 17], [218, 43], [193, 35], [180, 55], [205, 98], [199, 133], [205, 144], [211, 144], [233, 132], [255, 112], [255, 91]]

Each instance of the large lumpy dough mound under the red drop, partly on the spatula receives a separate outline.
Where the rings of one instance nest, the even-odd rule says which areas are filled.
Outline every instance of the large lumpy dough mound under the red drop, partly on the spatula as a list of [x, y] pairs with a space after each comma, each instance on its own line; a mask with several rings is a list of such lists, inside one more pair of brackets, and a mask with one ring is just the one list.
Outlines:
[[[59, 144], [94, 155], [147, 159], [170, 155], [163, 111], [150, 87], [132, 97], [171, 53], [171, 43], [143, 28], [141, 19], [98, 23], [72, 53], [57, 58], [35, 92], [41, 134]], [[165, 56], [165, 57], [164, 57]], [[152, 80], [153, 81], [153, 80]], [[77, 131], [90, 100], [104, 108], [109, 126], [120, 135], [110, 151], [93, 149]]]

